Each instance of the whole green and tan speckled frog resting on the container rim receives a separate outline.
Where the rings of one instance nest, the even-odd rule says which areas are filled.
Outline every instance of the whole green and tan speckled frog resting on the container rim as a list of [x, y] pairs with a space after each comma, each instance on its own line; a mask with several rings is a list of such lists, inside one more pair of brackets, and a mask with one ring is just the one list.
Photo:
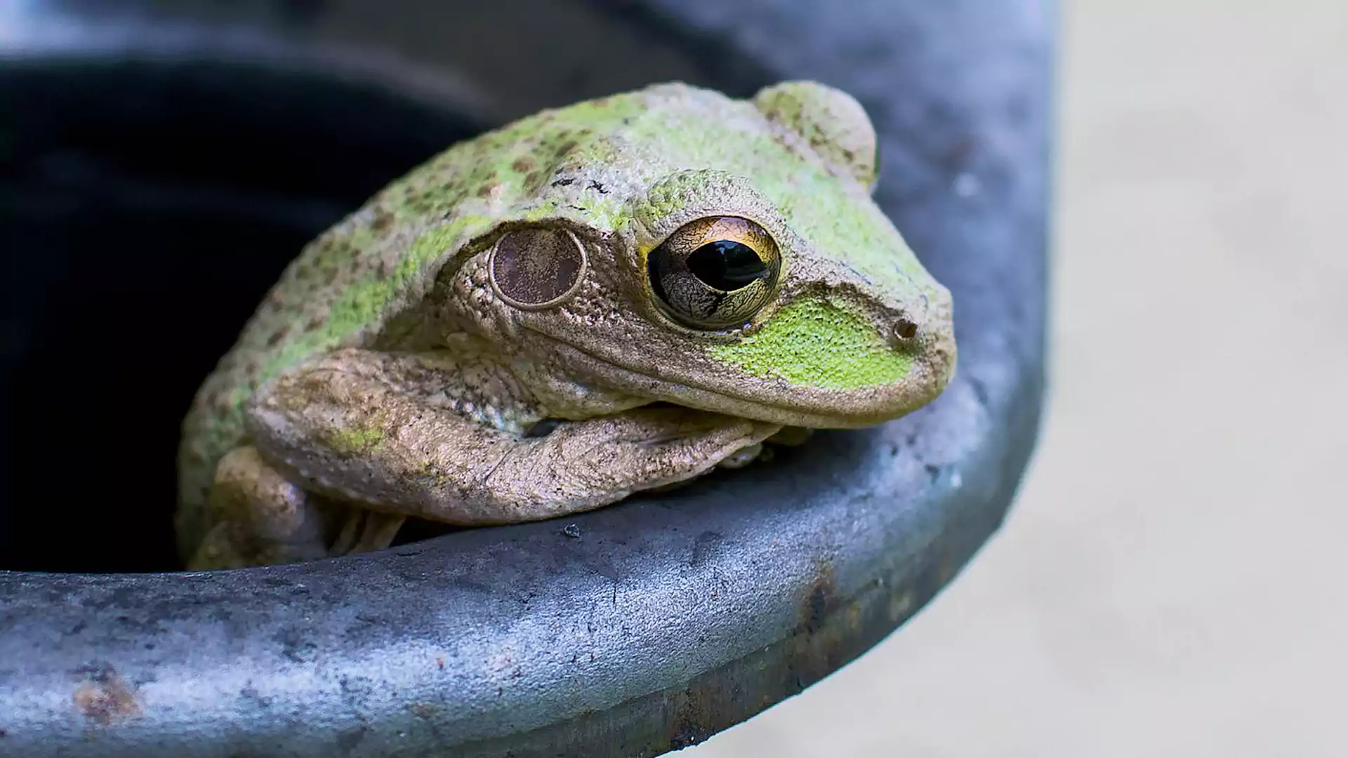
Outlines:
[[[334, 159], [340, 159], [334, 156]], [[450, 146], [305, 245], [195, 394], [190, 571], [534, 522], [934, 401], [950, 291], [863, 105], [662, 82]]]

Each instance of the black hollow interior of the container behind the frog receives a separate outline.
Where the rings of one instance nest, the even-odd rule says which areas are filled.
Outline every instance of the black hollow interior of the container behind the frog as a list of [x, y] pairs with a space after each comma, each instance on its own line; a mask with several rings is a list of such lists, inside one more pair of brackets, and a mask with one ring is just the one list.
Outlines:
[[174, 571], [179, 424], [315, 233], [480, 124], [295, 70], [0, 73], [0, 569]]

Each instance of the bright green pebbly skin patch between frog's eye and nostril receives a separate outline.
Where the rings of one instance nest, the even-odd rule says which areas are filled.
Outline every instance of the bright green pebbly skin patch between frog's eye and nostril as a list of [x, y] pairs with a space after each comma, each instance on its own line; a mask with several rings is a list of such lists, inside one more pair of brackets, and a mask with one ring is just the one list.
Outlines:
[[708, 351], [754, 376], [826, 390], [894, 384], [913, 368], [869, 321], [818, 298], [786, 305], [755, 334]]

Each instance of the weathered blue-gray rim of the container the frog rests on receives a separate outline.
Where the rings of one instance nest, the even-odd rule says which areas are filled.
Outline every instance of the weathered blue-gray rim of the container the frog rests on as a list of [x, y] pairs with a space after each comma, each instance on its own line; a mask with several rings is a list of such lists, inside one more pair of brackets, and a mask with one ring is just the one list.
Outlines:
[[[321, 26], [313, 5], [302, 23]], [[243, 572], [0, 572], [0, 755], [654, 755], [865, 651], [999, 526], [1043, 390], [1054, 4], [599, 7], [700, 62], [687, 78], [814, 77], [863, 100], [882, 204], [956, 295], [949, 391], [572, 519], [578, 537], [537, 523]]]

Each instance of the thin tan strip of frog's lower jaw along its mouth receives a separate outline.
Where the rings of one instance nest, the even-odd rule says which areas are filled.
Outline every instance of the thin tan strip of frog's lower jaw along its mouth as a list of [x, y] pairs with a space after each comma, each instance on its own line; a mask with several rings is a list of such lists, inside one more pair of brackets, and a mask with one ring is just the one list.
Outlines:
[[[780, 424], [783, 426], [806, 426], [810, 429], [859, 429], [899, 418], [925, 405], [930, 398], [914, 398], [911, 392], [894, 392], [892, 388], [876, 387], [872, 392], [805, 392], [790, 391], [782, 402], [771, 402], [763, 395], [768, 392], [736, 391], [728, 387], [708, 386], [690, 382], [671, 382], [652, 376], [640, 367], [628, 367], [600, 357], [594, 353], [566, 343], [555, 343], [554, 351], [563, 355], [568, 363], [584, 367], [596, 380], [639, 397], [663, 401], [674, 405], [724, 413], [754, 421]], [[890, 390], [890, 391], [886, 391]], [[917, 402], [914, 402], [917, 401]]]

